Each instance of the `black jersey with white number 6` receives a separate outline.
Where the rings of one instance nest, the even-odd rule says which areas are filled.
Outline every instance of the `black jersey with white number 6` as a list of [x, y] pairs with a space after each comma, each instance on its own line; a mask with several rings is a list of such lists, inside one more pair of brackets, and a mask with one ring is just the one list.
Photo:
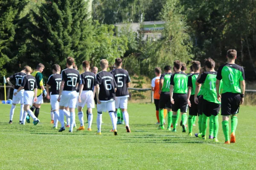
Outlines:
[[96, 84], [99, 85], [99, 100], [115, 100], [116, 81], [108, 71], [101, 71], [96, 75]]

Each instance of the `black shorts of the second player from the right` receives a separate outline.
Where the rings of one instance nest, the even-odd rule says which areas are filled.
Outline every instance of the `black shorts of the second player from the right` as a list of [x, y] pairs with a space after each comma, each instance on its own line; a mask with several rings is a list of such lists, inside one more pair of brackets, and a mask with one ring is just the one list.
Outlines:
[[221, 109], [221, 104], [214, 103], [214, 102], [209, 102], [205, 99], [203, 99], [203, 113], [206, 116], [217, 116], [220, 109]]

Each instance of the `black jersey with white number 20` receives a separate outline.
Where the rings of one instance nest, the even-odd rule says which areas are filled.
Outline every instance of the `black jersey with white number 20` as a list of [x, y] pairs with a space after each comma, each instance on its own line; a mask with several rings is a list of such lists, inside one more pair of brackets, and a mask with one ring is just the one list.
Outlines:
[[74, 68], [61, 71], [61, 79], [65, 82], [63, 91], [76, 91], [76, 83], [80, 82], [80, 74]]

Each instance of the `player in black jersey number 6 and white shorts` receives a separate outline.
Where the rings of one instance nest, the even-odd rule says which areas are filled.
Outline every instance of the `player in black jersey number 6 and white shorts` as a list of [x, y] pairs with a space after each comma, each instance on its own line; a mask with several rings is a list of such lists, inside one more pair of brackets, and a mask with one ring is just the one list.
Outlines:
[[96, 97], [97, 97], [97, 135], [101, 135], [102, 112], [108, 111], [114, 129], [114, 135], [117, 135], [115, 111], [116, 98], [116, 81], [111, 73], [107, 71], [108, 61], [106, 59], [100, 60], [102, 71], [96, 75]]

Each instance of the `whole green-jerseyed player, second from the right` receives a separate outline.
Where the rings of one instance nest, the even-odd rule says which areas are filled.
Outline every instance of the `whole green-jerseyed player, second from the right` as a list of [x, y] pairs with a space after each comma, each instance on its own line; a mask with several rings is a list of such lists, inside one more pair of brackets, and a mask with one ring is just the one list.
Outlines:
[[[207, 120], [209, 117], [212, 117], [213, 122], [213, 141], [218, 142], [218, 113], [221, 108], [221, 102], [217, 100], [216, 92], [216, 77], [217, 72], [214, 70], [215, 62], [213, 59], [206, 59], [204, 62], [206, 72], [201, 74], [200, 78], [195, 83], [199, 86], [201, 83], [204, 83], [204, 99], [203, 99], [203, 117], [202, 117], [202, 133], [198, 134], [198, 137], [201, 139], [206, 139], [206, 129], [207, 129]], [[196, 88], [195, 95], [198, 94], [200, 88]], [[197, 101], [197, 97], [195, 96]], [[196, 102], [195, 101], [195, 102]]]

